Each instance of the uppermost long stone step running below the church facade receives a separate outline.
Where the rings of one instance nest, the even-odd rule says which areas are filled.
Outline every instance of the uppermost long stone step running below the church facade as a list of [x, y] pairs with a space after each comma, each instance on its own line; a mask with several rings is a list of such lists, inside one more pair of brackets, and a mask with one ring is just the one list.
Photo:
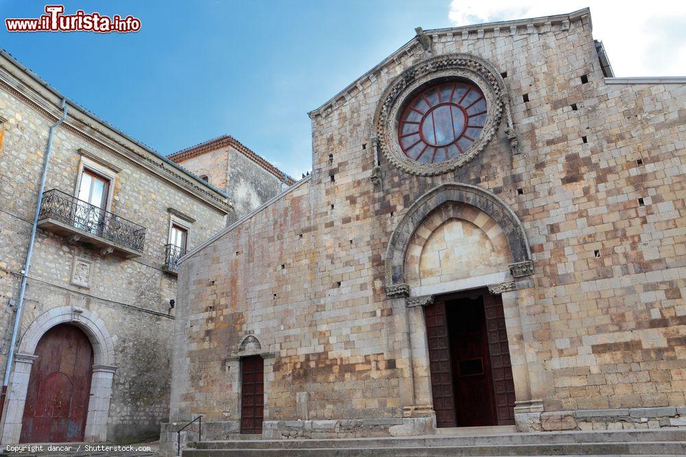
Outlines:
[[639, 443], [686, 441], [686, 429], [589, 432], [432, 435], [359, 439], [289, 439], [200, 441], [196, 449], [325, 449], [354, 447], [438, 447], [472, 445], [537, 445], [564, 443]]

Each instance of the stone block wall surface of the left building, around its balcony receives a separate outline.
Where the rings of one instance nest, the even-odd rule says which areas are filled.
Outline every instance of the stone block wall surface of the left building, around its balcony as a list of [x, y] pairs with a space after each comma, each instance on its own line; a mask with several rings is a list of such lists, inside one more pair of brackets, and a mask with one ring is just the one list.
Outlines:
[[[50, 106], [55, 101], [32, 90], [32, 78], [17, 72], [4, 57], [0, 66], [0, 116], [5, 119], [0, 125], [0, 365], [4, 367], [14, 321], [10, 300], [14, 303], [19, 294], [48, 129], [54, 123], [36, 105]], [[90, 135], [82, 133], [86, 130], [82, 121], [82, 114], [70, 106], [67, 122], [54, 134], [45, 190], [74, 195], [83, 156], [118, 169], [113, 171], [110, 211], [146, 228], [143, 255], [133, 259], [104, 255], [88, 243], [72, 243], [67, 236], [39, 229], [18, 344], [29, 325], [55, 308], [71, 306], [101, 317], [113, 338], [117, 366], [106, 436], [110, 441], [135, 441], [155, 436], [159, 423], [168, 417], [174, 325], [169, 299], [176, 299], [176, 276], [163, 271], [169, 208], [195, 220], [187, 222], [193, 247], [224, 227], [228, 206], [225, 197], [151, 152], [132, 146], [128, 138], [114, 135], [113, 140], [92, 129]], [[75, 258], [92, 262], [87, 287], [73, 284]]]

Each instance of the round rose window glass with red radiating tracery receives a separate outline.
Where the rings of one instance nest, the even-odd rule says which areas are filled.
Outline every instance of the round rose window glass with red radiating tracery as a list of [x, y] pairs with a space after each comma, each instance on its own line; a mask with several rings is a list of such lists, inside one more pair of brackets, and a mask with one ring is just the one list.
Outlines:
[[486, 99], [475, 85], [449, 82], [432, 86], [407, 103], [398, 138], [403, 153], [418, 162], [456, 158], [481, 135]]

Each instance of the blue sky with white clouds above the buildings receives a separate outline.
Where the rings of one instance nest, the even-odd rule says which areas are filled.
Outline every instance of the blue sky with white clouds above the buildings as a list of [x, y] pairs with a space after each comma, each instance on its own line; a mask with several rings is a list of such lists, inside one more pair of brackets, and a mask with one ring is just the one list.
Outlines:
[[[54, 2], [58, 3], [58, 2]], [[591, 7], [616, 76], [686, 75], [685, 1], [71, 1], [141, 30], [15, 33], [0, 47], [69, 99], [163, 155], [230, 134], [294, 177], [321, 106], [424, 29]], [[34, 18], [45, 2], [0, 0]], [[4, 22], [4, 21], [3, 21]]]

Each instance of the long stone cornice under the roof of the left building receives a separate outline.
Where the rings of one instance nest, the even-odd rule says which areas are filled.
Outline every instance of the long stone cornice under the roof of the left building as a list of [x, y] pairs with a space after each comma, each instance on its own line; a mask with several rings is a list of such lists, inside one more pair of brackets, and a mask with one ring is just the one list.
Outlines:
[[[0, 88], [23, 101], [50, 121], [60, 118], [58, 103], [64, 97], [36, 74], [0, 50]], [[99, 149], [126, 160], [222, 214], [232, 207], [223, 191], [203, 182], [182, 167], [163, 158], [149, 147], [123, 134], [93, 113], [67, 99], [69, 114], [61, 128], [86, 140]]]

